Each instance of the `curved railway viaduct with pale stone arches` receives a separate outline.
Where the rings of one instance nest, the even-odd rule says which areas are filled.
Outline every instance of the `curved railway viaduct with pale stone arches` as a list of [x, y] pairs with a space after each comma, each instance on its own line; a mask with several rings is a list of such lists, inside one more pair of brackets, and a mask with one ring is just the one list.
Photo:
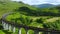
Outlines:
[[51, 29], [47, 29], [47, 28], [37, 28], [37, 27], [32, 27], [32, 26], [26, 26], [26, 25], [22, 25], [22, 24], [16, 24], [14, 22], [9, 22], [7, 20], [5, 20], [5, 17], [9, 15], [9, 14], [5, 14], [2, 16], [1, 24], [4, 28], [4, 30], [9, 30], [12, 31], [13, 33], [16, 32], [16, 28], [18, 28], [18, 33], [17, 34], [22, 34], [21, 33], [21, 28], [24, 28], [26, 31], [26, 34], [29, 34], [29, 30], [33, 30], [34, 34], [40, 34], [40, 32], [44, 33], [44, 34], [60, 34], [60, 30], [51, 30]]

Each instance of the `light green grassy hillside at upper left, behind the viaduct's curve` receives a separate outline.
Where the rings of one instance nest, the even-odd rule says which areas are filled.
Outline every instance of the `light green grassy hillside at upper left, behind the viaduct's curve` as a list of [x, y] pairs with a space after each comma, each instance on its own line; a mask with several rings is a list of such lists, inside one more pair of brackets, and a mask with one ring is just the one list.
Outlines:
[[0, 1], [0, 18], [4, 13], [14, 11], [15, 9], [18, 9], [18, 7], [21, 6], [28, 6], [28, 5], [12, 1]]

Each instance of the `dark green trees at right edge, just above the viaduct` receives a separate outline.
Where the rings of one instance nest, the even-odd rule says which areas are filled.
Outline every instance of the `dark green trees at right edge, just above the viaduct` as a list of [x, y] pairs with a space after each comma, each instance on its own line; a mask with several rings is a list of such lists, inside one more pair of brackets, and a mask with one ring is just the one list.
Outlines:
[[55, 22], [44, 23], [45, 28], [60, 30], [60, 20], [56, 20]]

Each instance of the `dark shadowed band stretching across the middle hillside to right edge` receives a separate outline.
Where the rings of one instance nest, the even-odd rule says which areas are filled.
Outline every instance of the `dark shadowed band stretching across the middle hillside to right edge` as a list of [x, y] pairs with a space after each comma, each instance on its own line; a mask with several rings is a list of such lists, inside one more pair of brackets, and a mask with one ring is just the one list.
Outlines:
[[59, 17], [60, 13], [53, 13], [53, 12], [43, 12], [39, 10], [32, 10], [28, 7], [20, 7], [18, 11], [22, 14], [25, 14], [27, 16], [54, 16]]

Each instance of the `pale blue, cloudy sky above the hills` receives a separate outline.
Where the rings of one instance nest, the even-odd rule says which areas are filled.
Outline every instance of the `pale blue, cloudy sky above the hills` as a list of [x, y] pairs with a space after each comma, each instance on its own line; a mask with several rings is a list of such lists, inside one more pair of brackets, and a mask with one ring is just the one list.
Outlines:
[[29, 5], [38, 5], [45, 3], [54, 4], [54, 5], [60, 4], [60, 0], [13, 0], [13, 1], [22, 1]]

